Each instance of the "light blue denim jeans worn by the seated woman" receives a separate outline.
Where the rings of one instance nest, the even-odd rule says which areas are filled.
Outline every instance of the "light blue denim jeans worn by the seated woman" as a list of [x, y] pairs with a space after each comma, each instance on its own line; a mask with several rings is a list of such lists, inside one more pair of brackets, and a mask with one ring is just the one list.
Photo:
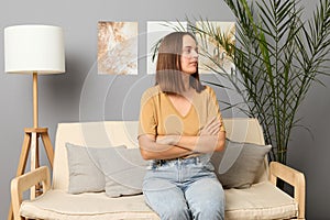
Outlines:
[[152, 162], [143, 194], [162, 220], [224, 219], [224, 191], [208, 158]]

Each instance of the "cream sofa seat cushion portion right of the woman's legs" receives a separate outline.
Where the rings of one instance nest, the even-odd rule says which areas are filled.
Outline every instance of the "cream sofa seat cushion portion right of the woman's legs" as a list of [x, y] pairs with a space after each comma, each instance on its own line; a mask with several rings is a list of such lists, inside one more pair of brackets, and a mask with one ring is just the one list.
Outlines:
[[289, 219], [297, 212], [295, 200], [270, 182], [226, 190], [226, 220]]

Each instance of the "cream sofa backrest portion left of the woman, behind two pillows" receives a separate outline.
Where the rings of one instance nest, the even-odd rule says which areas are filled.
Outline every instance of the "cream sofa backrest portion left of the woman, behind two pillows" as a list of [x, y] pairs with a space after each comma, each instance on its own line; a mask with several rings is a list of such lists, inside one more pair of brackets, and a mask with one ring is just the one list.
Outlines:
[[138, 147], [138, 121], [97, 121], [58, 123], [55, 139], [53, 188], [68, 190], [69, 170], [65, 143], [80, 146]]

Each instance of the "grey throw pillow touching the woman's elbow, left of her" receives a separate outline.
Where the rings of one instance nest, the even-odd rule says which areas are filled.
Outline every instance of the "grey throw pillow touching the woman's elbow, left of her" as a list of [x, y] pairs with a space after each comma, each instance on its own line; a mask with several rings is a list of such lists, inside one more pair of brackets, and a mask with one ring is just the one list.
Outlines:
[[139, 148], [118, 148], [116, 152], [107, 148], [98, 157], [109, 197], [142, 194], [148, 163], [142, 158]]

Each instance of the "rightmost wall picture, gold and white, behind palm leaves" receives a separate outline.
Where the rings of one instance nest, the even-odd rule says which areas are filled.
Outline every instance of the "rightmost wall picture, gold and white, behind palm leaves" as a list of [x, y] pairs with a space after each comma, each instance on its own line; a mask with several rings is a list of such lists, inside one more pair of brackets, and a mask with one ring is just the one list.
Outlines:
[[[224, 72], [227, 74], [234, 73], [235, 67], [230, 56], [233, 53], [233, 50], [232, 47], [224, 46], [224, 44], [235, 43], [235, 23], [198, 21], [196, 22], [196, 28], [198, 30], [206, 30], [206, 32], [216, 32], [223, 41], [223, 44], [220, 45], [218, 41], [215, 41], [210, 36], [200, 33], [196, 35], [199, 45], [199, 73], [210, 74], [212, 73], [212, 69]], [[217, 64], [215, 64], [213, 61], [216, 61]]]

